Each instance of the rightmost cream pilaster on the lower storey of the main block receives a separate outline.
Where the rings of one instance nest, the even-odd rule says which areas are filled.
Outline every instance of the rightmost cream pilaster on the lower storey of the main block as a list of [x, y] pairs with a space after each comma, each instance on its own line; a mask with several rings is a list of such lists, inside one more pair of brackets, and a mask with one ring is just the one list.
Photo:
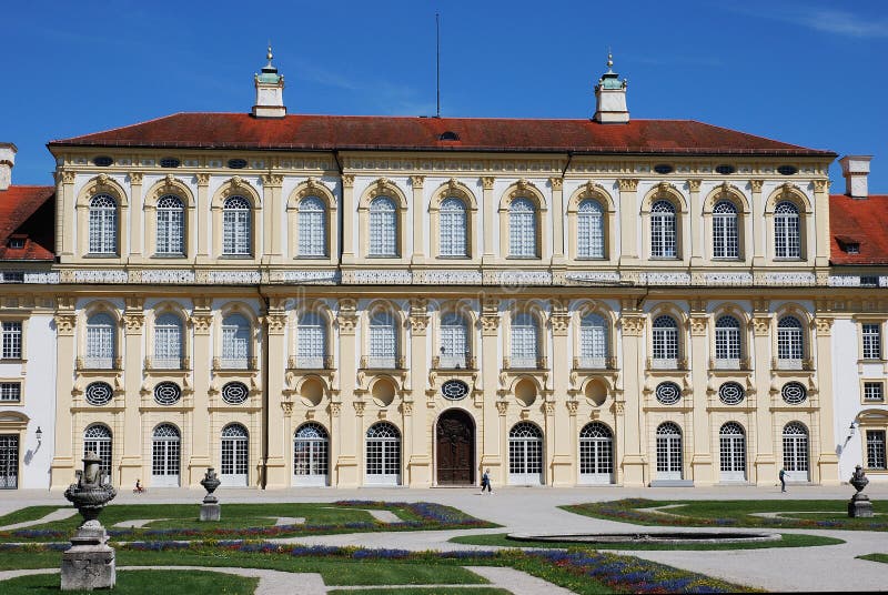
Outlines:
[[820, 485], [839, 485], [839, 458], [836, 455], [836, 435], [834, 423], [834, 387], [833, 387], [833, 322], [835, 320], [823, 313], [814, 319], [817, 326], [817, 403], [819, 417], [817, 427], [820, 434], [817, 470]]

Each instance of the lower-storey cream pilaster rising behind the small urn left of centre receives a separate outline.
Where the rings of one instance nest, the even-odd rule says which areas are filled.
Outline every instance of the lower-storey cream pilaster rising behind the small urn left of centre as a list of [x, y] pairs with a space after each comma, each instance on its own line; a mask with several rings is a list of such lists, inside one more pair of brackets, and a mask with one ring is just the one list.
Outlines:
[[194, 298], [194, 310], [191, 313], [193, 331], [192, 366], [194, 369], [194, 414], [191, 423], [191, 460], [188, 462], [188, 485], [198, 485], [203, 478], [206, 467], [213, 465], [210, 456], [210, 366], [213, 359], [213, 346], [210, 329], [213, 325], [213, 313], [210, 310], [210, 298]]

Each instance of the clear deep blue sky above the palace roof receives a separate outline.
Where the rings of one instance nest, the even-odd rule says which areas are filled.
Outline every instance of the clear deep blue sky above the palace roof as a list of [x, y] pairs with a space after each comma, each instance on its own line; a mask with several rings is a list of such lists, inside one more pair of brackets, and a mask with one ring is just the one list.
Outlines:
[[19, 148], [13, 183], [52, 183], [51, 139], [249, 111], [269, 39], [290, 113], [434, 114], [435, 11], [442, 115], [587, 118], [609, 46], [633, 118], [871, 154], [870, 191], [888, 193], [881, 0], [10, 2], [0, 140]]

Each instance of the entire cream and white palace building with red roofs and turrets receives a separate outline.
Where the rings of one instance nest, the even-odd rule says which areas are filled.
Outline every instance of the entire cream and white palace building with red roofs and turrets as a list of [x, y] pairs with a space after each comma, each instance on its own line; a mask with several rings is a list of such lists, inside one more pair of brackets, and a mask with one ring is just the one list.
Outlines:
[[327, 117], [270, 58], [252, 113], [51, 141], [54, 186], [0, 145], [0, 486], [879, 478], [869, 158], [830, 196], [609, 65], [592, 119]]

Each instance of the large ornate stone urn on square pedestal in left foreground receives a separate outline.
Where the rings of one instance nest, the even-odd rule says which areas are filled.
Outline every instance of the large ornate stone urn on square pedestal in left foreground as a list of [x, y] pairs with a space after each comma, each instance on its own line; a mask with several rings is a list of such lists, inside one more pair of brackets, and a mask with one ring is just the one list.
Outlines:
[[88, 452], [83, 457], [83, 471], [77, 472], [77, 483], [64, 491], [64, 497], [83, 516], [83, 523], [71, 537], [71, 547], [62, 554], [62, 591], [114, 586], [114, 549], [108, 545], [108, 533], [99, 523], [99, 514], [117, 494], [102, 471], [101, 458]]

